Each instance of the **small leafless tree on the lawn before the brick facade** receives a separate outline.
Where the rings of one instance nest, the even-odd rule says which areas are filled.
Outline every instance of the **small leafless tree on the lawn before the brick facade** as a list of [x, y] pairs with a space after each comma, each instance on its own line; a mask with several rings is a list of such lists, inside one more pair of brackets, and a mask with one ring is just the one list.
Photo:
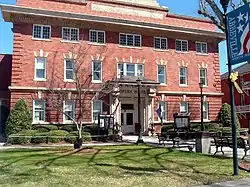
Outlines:
[[[84, 44], [77, 48], [71, 47], [68, 55], [64, 57], [66, 60], [73, 62], [73, 81], [70, 83], [61, 81], [62, 72], [59, 72], [55, 65], [58, 52], [55, 52], [53, 57], [54, 65], [51, 69], [51, 79], [47, 85], [49, 91], [44, 92], [47, 99], [46, 103], [50, 105], [51, 111], [56, 111], [57, 117], [63, 114], [67, 120], [72, 121], [76, 125], [79, 139], [82, 138], [84, 117], [85, 113], [89, 111], [90, 102], [95, 99], [104, 98], [114, 90], [114, 85], [117, 86], [117, 84], [113, 84], [115, 82], [114, 78], [98, 85], [92, 84], [92, 77], [94, 75], [92, 74], [92, 64], [89, 59], [90, 48], [89, 45]], [[99, 56], [102, 56], [101, 54], [105, 53], [105, 50], [105, 47], [100, 47], [98, 51]], [[67, 100], [74, 101], [75, 115], [64, 110], [64, 102]], [[105, 104], [109, 105], [109, 103]]]

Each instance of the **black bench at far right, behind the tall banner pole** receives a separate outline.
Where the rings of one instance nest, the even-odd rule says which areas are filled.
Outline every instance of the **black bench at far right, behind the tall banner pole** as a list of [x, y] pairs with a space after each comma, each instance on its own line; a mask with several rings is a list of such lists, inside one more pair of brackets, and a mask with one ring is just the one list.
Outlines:
[[[223, 155], [224, 155], [223, 147], [233, 148], [233, 141], [232, 141], [231, 136], [225, 136], [225, 137], [214, 136], [213, 138], [214, 138], [214, 144], [216, 147], [216, 151], [215, 151], [214, 155], [216, 155], [216, 153], [219, 152], [219, 150], [218, 150], [219, 148], [220, 148]], [[242, 137], [238, 137], [237, 138], [237, 148], [244, 150], [245, 154], [242, 157], [242, 160], [244, 160], [244, 158], [247, 156], [247, 151], [250, 150], [250, 146], [246, 143], [246, 141]]]

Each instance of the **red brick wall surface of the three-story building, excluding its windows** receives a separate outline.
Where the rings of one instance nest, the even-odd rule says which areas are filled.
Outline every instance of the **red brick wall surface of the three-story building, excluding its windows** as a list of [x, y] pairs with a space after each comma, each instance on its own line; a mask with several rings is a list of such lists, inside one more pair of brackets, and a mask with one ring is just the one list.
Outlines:
[[[112, 1], [113, 2], [113, 1]], [[117, 66], [120, 62], [131, 64], [143, 64], [144, 75], [147, 79], [157, 82], [157, 65], [165, 65], [166, 67], [166, 85], [157, 86], [156, 95], [152, 99], [145, 97], [145, 103], [149, 101], [149, 105], [144, 110], [145, 115], [151, 114], [151, 123], [158, 123], [156, 109], [158, 101], [167, 103], [167, 118], [164, 123], [173, 121], [173, 113], [180, 111], [180, 102], [187, 101], [189, 103], [189, 112], [191, 112], [191, 120], [199, 121], [200, 119], [200, 88], [199, 88], [199, 68], [207, 69], [208, 86], [203, 89], [205, 101], [209, 103], [209, 121], [217, 120], [218, 111], [221, 106], [221, 84], [219, 72], [219, 55], [218, 42], [223, 37], [212, 36], [206, 32], [214, 32], [216, 35], [216, 27], [209, 21], [183, 17], [179, 15], [169, 14], [166, 9], [145, 5], [129, 5], [122, 2], [113, 2], [109, 0], [88, 2], [68, 0], [17, 0], [17, 6], [29, 7], [33, 9], [43, 9], [51, 11], [67, 11], [70, 13], [82, 13], [99, 17], [119, 18], [123, 20], [139, 21], [141, 23], [148, 22], [152, 24], [162, 24], [173, 26], [176, 28], [193, 29], [201, 34], [181, 33], [174, 30], [163, 31], [157, 29], [144, 29], [137, 26], [126, 26], [109, 23], [88, 22], [80, 20], [70, 20], [70, 18], [55, 18], [30, 15], [20, 15], [11, 13], [14, 17], [14, 50], [13, 65], [11, 78], [11, 108], [20, 97], [27, 99], [29, 106], [32, 108], [33, 100], [45, 99], [46, 90], [48, 91], [53, 82], [54, 87], [72, 90], [75, 88], [73, 83], [64, 82], [64, 59], [70, 55], [69, 51], [74, 48], [74, 53], [83, 50], [82, 61], [84, 61], [84, 75], [87, 79], [92, 75], [92, 61], [102, 61], [102, 80], [103, 82], [113, 80], [117, 77]], [[118, 8], [128, 9], [127, 14], [119, 14], [119, 12], [93, 10], [95, 5], [114, 6]], [[32, 10], [33, 10], [32, 9]], [[138, 16], [133, 15], [138, 10]], [[29, 10], [31, 11], [31, 10]], [[141, 12], [140, 12], [141, 11]], [[149, 13], [159, 13], [151, 15]], [[149, 12], [149, 13], [148, 13]], [[8, 21], [9, 13], [3, 10], [4, 17]], [[159, 17], [160, 15], [163, 17]], [[16, 17], [15, 17], [16, 16]], [[155, 17], [152, 17], [155, 16]], [[103, 18], [104, 19], [104, 18]], [[33, 24], [51, 25], [51, 38], [49, 40], [36, 40], [32, 37]], [[62, 41], [62, 27], [79, 28], [79, 42]], [[89, 42], [89, 30], [97, 29], [106, 31], [106, 43], [97, 45]], [[192, 30], [192, 32], [193, 32]], [[190, 31], [191, 32], [191, 31]], [[126, 47], [119, 45], [119, 33], [140, 34], [142, 38], [141, 47]], [[168, 42], [168, 50], [154, 49], [154, 37], [166, 37]], [[188, 40], [188, 52], [176, 51], [176, 39]], [[196, 41], [206, 42], [208, 53], [197, 54]], [[77, 54], [78, 56], [81, 54]], [[35, 57], [46, 57], [46, 81], [34, 80], [35, 73]], [[188, 71], [188, 84], [185, 87], [179, 86], [179, 68], [186, 67]], [[86, 89], [86, 123], [92, 123], [91, 100], [95, 92], [100, 88], [100, 84], [89, 82]], [[130, 89], [130, 88], [128, 88]], [[39, 92], [42, 92], [42, 94]], [[74, 91], [72, 91], [74, 95]], [[74, 96], [73, 96], [74, 97]], [[124, 97], [124, 96], [123, 96]], [[132, 96], [136, 97], [136, 96]], [[103, 105], [104, 113], [111, 113], [111, 96], [105, 96], [105, 104]], [[184, 99], [185, 98], [185, 99]], [[147, 104], [145, 104], [147, 105]], [[146, 107], [146, 106], [145, 106]], [[152, 108], [152, 113], [150, 112]], [[57, 114], [48, 104], [46, 106], [46, 121], [62, 123], [62, 114]], [[77, 113], [77, 112], [76, 112]], [[119, 115], [119, 114], [118, 114]], [[136, 114], [135, 114], [136, 115]], [[117, 119], [118, 120], [118, 119]], [[118, 120], [119, 121], [119, 120]], [[136, 121], [136, 120], [135, 120]], [[146, 122], [149, 123], [149, 122]], [[147, 124], [149, 125], [149, 124]], [[145, 127], [147, 131], [147, 127]]]

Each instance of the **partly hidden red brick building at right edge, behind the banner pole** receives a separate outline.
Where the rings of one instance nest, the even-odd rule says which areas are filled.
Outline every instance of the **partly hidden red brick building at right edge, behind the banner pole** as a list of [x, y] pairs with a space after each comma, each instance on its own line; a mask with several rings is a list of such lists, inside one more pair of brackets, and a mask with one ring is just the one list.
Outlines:
[[[242, 128], [250, 128], [250, 64], [246, 63], [234, 69], [238, 72], [238, 84], [243, 90], [243, 94], [234, 91], [235, 107]], [[221, 75], [221, 86], [224, 96], [223, 103], [230, 104], [230, 92], [228, 85], [228, 73]]]

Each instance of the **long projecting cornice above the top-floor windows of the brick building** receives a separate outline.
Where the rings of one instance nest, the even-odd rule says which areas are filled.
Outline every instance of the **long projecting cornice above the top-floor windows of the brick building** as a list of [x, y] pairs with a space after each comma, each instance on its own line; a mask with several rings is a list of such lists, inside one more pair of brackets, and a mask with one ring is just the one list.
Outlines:
[[[89, 14], [79, 14], [79, 13], [71, 13], [71, 12], [62, 12], [62, 11], [52, 11], [46, 9], [35, 9], [35, 8], [27, 8], [13, 5], [1, 5], [0, 8], [3, 12], [3, 17], [6, 20], [4, 13], [14, 13], [14, 14], [26, 14], [33, 16], [43, 16], [43, 17], [55, 17], [62, 19], [73, 19], [73, 20], [81, 20], [81, 21], [91, 21], [97, 23], [109, 23], [116, 25], [124, 25], [138, 28], [147, 28], [147, 29], [155, 29], [155, 30], [163, 30], [163, 31], [172, 31], [186, 34], [195, 34], [201, 36], [211, 36], [214, 38], [218, 38], [219, 40], [225, 40], [225, 34], [217, 31], [207, 31], [193, 28], [185, 28], [185, 27], [177, 27], [177, 26], [169, 26], [158, 23], [149, 23], [149, 22], [140, 22], [133, 21], [127, 19], [118, 19], [118, 18], [110, 18], [104, 16], [95, 16]], [[11, 20], [7, 20], [11, 21]]]

